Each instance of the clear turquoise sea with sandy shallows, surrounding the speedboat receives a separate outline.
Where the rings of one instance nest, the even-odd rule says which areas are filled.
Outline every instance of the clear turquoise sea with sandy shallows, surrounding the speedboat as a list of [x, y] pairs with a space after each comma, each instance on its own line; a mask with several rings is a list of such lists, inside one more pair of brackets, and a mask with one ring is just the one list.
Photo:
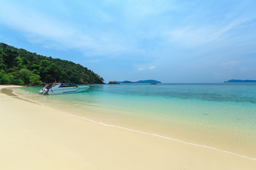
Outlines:
[[[256, 83], [99, 84], [86, 92], [22, 99], [86, 121], [256, 160]], [[35, 110], [36, 114], [36, 110]]]

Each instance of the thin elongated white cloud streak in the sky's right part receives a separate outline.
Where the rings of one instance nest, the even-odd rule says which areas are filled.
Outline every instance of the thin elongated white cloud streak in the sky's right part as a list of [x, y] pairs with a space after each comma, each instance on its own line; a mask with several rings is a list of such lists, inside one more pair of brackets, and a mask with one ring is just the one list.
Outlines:
[[[251, 18], [253, 20], [255, 18]], [[217, 46], [226, 43], [230, 38], [240, 37], [240, 35], [234, 35], [231, 31], [236, 31], [240, 26], [248, 21], [248, 18], [239, 18], [227, 23], [219, 23], [218, 25], [207, 26], [185, 26], [182, 29], [174, 29], [167, 31], [166, 35], [171, 42], [177, 42], [185, 45], [186, 47], [200, 46], [205, 43], [214, 42]], [[237, 43], [240, 38], [236, 38]]]

